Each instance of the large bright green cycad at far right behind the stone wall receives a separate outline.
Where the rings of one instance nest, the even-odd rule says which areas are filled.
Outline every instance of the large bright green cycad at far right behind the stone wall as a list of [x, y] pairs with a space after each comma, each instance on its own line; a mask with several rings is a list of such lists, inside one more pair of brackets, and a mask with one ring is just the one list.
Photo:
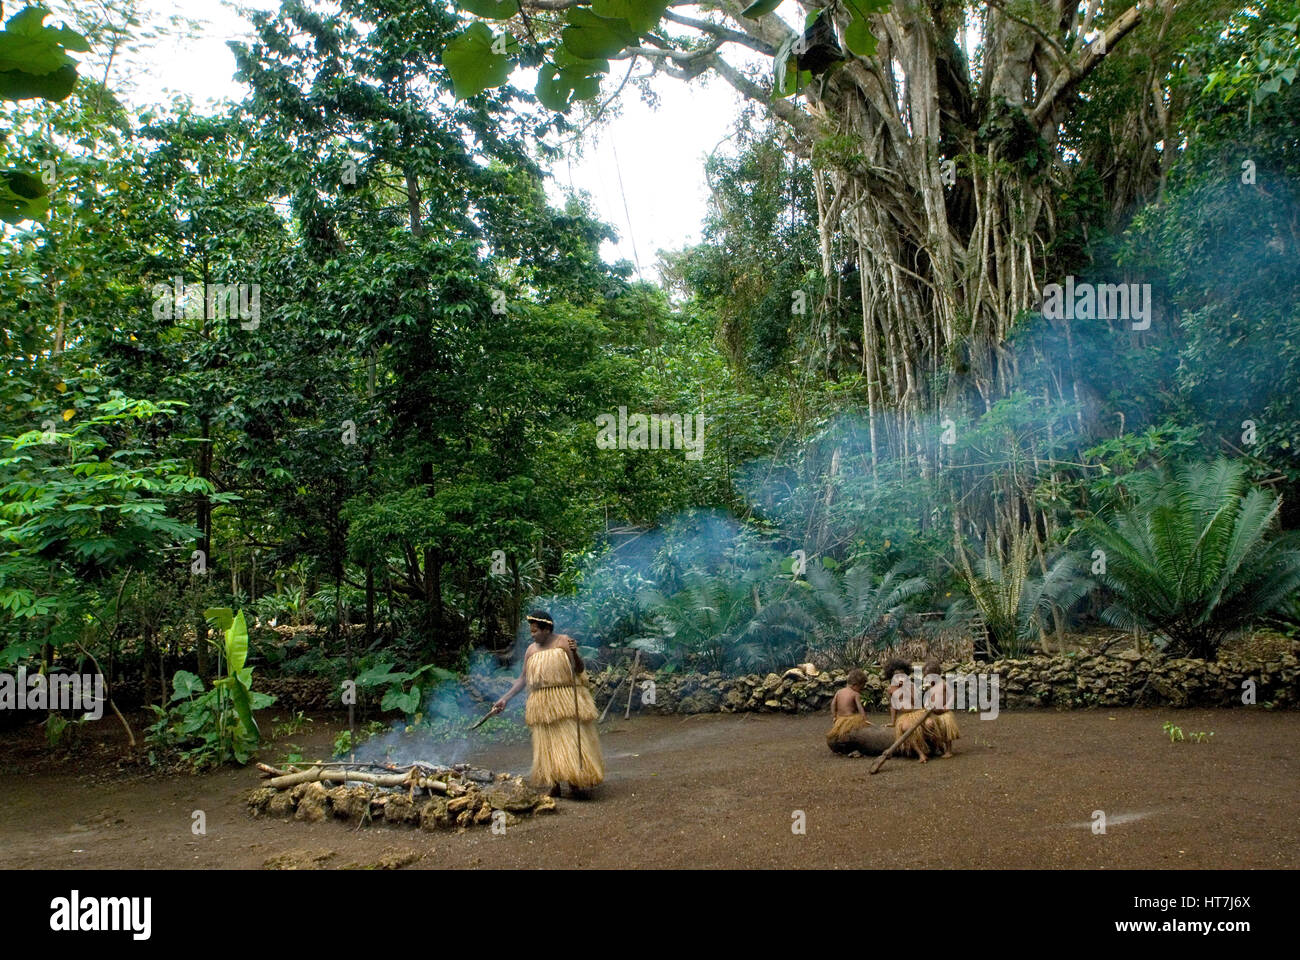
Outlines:
[[1245, 467], [1218, 458], [1157, 472], [1135, 503], [1087, 532], [1114, 593], [1102, 618], [1167, 637], [1166, 652], [1213, 657], [1228, 635], [1282, 610], [1300, 591], [1294, 535], [1270, 539], [1282, 507]]

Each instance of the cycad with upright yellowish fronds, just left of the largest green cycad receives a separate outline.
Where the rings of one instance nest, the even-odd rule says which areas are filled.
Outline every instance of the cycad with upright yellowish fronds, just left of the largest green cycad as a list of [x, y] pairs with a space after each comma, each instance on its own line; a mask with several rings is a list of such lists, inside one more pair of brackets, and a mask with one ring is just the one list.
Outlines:
[[1052, 559], [1045, 574], [1031, 574], [1032, 541], [1027, 531], [1013, 535], [1005, 558], [992, 552], [992, 536], [984, 541], [984, 557], [976, 561], [978, 570], [972, 568], [958, 544], [959, 574], [988, 627], [992, 652], [1017, 657], [1037, 639], [1053, 607], [1069, 611], [1087, 596], [1091, 584], [1079, 575], [1078, 563], [1070, 554]]

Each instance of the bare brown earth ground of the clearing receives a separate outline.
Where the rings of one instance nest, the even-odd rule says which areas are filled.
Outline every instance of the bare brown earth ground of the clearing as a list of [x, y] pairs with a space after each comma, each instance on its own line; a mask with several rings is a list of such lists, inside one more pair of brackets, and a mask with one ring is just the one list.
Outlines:
[[[1166, 719], [1214, 738], [1171, 744]], [[308, 756], [328, 752], [332, 723], [291, 739]], [[823, 715], [612, 721], [597, 797], [562, 799], [558, 813], [500, 836], [254, 820], [243, 803], [259, 784], [254, 770], [127, 778], [9, 751], [0, 757], [0, 866], [1300, 866], [1296, 713], [962, 714], [954, 758], [890, 760], [875, 777], [870, 760], [826, 748], [827, 726]], [[485, 747], [472, 760], [526, 773], [530, 752]], [[191, 834], [196, 809], [205, 836]], [[1104, 836], [1092, 831], [1098, 809]], [[792, 833], [796, 810], [806, 835]]]

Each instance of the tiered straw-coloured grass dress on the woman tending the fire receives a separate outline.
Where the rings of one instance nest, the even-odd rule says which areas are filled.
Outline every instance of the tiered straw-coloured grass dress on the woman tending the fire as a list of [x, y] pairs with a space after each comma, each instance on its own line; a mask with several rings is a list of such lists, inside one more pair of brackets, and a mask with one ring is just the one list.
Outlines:
[[564, 780], [571, 787], [586, 790], [601, 783], [604, 779], [604, 757], [595, 731], [595, 701], [586, 673], [577, 676], [576, 718], [573, 674], [563, 648], [534, 653], [524, 666], [524, 675], [528, 680], [524, 722], [533, 730], [533, 786], [552, 787]]

